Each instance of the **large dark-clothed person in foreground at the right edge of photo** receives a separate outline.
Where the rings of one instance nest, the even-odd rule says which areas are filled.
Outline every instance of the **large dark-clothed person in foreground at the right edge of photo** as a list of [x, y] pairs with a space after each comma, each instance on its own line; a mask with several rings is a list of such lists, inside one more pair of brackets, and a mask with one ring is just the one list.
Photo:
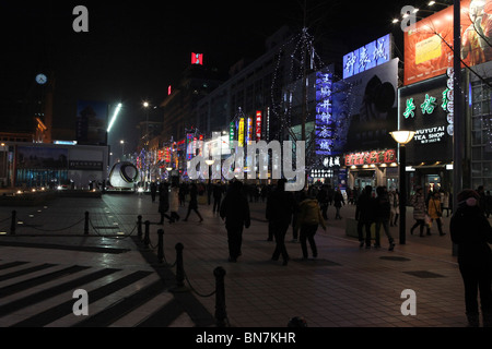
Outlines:
[[471, 189], [462, 190], [458, 207], [453, 214], [449, 230], [457, 244], [458, 265], [465, 285], [465, 308], [469, 326], [479, 326], [479, 303], [483, 326], [492, 325], [492, 228], [479, 206], [480, 194]]

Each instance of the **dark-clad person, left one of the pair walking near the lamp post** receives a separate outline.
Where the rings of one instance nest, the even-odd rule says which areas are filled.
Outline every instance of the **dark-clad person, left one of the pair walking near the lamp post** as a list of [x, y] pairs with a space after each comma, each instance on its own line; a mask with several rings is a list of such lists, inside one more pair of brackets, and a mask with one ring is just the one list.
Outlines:
[[363, 228], [365, 228], [365, 248], [371, 249], [371, 226], [375, 221], [375, 202], [373, 186], [366, 185], [355, 206], [355, 220], [358, 221], [358, 234], [360, 246], [364, 246]]

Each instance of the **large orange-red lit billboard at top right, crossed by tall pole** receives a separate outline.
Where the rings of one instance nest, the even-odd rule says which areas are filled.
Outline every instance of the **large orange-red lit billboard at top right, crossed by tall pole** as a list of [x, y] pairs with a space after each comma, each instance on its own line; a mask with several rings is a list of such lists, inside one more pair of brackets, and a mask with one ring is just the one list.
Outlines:
[[[464, 0], [460, 7], [461, 59], [469, 67], [484, 63], [492, 58], [488, 44], [492, 39], [492, 0]], [[405, 85], [445, 74], [453, 67], [453, 8], [417, 22], [405, 33]]]

